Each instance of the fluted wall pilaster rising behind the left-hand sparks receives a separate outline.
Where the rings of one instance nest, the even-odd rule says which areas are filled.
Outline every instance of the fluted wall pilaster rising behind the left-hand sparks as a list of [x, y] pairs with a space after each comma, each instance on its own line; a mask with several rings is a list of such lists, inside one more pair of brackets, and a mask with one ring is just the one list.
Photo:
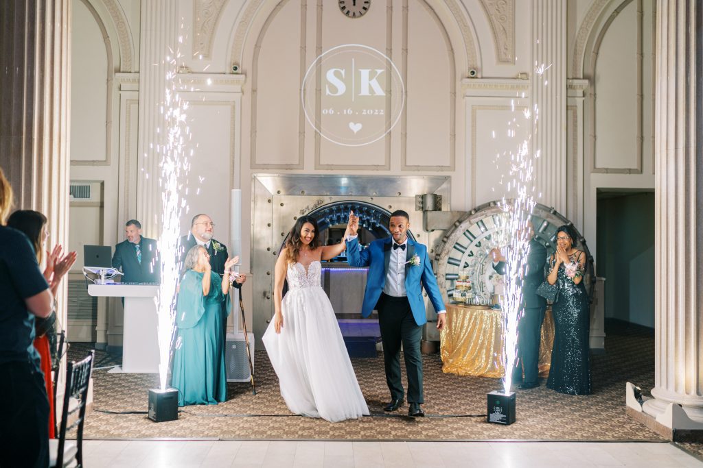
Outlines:
[[178, 49], [178, 4], [173, 0], [141, 2], [137, 216], [147, 237], [157, 237], [160, 232], [161, 190], [156, 149], [165, 142], [166, 125], [160, 104], [164, 101], [169, 62]]

